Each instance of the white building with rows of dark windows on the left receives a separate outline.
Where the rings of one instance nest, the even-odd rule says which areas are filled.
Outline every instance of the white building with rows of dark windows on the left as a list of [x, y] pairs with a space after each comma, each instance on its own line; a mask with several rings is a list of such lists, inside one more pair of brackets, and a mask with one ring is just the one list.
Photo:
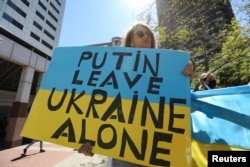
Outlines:
[[1, 146], [23, 143], [28, 110], [58, 46], [66, 0], [0, 0]]

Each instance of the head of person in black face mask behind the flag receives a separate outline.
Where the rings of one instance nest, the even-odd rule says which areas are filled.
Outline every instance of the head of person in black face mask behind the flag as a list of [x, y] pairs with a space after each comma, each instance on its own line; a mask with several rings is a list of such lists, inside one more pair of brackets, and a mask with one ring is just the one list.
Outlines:
[[221, 88], [219, 85], [217, 85], [215, 76], [209, 72], [201, 74], [199, 82], [200, 82], [199, 90], [209, 90], [209, 89]]

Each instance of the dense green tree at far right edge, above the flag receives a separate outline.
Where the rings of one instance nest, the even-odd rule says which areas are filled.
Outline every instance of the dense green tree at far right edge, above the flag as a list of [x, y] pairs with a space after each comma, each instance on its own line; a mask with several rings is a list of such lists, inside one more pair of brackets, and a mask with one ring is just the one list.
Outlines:
[[243, 34], [249, 28], [232, 20], [222, 49], [215, 56], [213, 68], [223, 87], [245, 85], [250, 80], [250, 36]]

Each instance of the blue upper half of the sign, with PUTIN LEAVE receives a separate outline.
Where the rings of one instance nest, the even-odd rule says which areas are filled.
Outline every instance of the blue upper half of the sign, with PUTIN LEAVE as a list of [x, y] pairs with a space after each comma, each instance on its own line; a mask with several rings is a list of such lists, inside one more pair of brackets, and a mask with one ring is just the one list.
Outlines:
[[189, 77], [181, 74], [188, 62], [188, 52], [166, 49], [59, 47], [41, 88], [88, 95], [104, 90], [108, 97], [120, 93], [125, 99], [138, 94], [152, 102], [160, 96], [190, 99]]

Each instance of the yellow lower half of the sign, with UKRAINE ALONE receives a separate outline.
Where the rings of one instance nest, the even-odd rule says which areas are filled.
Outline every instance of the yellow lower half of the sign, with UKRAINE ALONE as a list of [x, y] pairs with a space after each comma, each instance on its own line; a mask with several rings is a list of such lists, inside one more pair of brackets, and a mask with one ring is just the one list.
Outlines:
[[[159, 101], [161, 101], [159, 99]], [[22, 135], [148, 166], [190, 166], [190, 108], [39, 90]]]

